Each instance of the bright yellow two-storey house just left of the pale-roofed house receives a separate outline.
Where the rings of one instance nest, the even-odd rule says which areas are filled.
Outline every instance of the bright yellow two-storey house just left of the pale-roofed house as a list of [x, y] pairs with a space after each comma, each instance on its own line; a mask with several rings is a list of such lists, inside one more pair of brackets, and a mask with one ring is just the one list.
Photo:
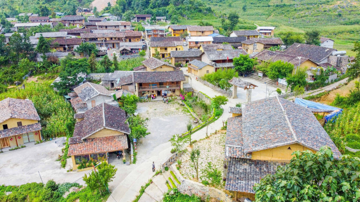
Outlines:
[[170, 57], [170, 51], [183, 51], [184, 42], [182, 41], [159, 41], [150, 42], [150, 56], [153, 57], [155, 49], [160, 52], [161, 58]]

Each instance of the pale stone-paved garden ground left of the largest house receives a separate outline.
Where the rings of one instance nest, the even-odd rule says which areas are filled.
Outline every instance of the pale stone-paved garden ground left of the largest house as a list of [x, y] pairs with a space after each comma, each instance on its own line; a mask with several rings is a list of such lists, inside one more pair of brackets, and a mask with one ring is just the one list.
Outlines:
[[[208, 166], [208, 162], [212, 163], [214, 168], [217, 168], [222, 173], [223, 160], [225, 155], [225, 133], [213, 134], [209, 138], [202, 141], [195, 142], [193, 148], [200, 149], [199, 157], [199, 182], [201, 182], [201, 176], [204, 168]], [[191, 151], [190, 148], [188, 148]], [[188, 152], [186, 155], [190, 156]], [[181, 175], [186, 179], [196, 181], [196, 172], [193, 162], [188, 159], [183, 162], [180, 168]]]

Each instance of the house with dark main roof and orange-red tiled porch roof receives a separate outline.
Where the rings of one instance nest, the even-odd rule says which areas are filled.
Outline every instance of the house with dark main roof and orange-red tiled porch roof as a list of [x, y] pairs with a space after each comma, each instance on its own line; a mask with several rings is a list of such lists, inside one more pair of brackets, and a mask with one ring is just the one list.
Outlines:
[[77, 122], [68, 150], [74, 170], [83, 161], [108, 162], [108, 154], [114, 153], [116, 157], [118, 151], [125, 160], [125, 150], [130, 148], [130, 129], [124, 110], [102, 102], [74, 118]]

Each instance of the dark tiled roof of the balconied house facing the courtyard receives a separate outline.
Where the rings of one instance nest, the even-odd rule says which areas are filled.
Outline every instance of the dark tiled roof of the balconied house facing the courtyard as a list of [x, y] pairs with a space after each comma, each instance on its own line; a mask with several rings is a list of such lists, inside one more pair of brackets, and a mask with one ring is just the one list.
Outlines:
[[185, 81], [182, 70], [166, 72], [134, 72], [134, 83]]

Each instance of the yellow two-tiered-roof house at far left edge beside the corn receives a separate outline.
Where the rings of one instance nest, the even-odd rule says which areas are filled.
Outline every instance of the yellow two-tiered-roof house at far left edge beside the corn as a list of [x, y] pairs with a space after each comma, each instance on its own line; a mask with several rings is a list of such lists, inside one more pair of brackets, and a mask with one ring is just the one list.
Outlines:
[[31, 100], [0, 101], [0, 148], [20, 147], [41, 140], [40, 117]]

